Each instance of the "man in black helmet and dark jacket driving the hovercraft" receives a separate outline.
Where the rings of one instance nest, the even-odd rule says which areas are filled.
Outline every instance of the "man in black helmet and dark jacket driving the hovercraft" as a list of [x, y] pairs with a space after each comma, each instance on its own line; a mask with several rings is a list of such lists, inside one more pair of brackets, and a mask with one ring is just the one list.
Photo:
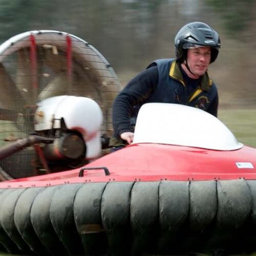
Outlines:
[[154, 61], [116, 97], [113, 127], [117, 140], [111, 144], [133, 142], [133, 125], [144, 103], [184, 104], [217, 116], [217, 87], [207, 69], [216, 60], [220, 46], [219, 34], [207, 24], [193, 22], [182, 27], [175, 37], [176, 59]]

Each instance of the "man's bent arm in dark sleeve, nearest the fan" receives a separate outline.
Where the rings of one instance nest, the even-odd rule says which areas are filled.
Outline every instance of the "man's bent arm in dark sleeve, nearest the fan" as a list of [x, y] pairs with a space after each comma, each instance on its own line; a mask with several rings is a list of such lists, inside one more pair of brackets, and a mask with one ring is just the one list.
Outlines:
[[[145, 101], [157, 84], [158, 69], [157, 66], [154, 66], [139, 73], [118, 94], [112, 112], [114, 136], [116, 138], [120, 138], [120, 135], [125, 132], [132, 132], [130, 117], [133, 106]], [[129, 134], [128, 140], [125, 139], [126, 137], [122, 139], [129, 142], [131, 136]]]

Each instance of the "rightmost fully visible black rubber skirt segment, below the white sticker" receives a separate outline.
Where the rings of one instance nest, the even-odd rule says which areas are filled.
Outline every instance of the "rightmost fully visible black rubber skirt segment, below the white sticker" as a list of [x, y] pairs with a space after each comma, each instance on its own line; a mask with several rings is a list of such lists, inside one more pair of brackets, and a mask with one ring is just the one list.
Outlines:
[[206, 247], [224, 251], [234, 246], [234, 238], [249, 218], [252, 196], [247, 182], [239, 179], [219, 180], [217, 197], [217, 215]]

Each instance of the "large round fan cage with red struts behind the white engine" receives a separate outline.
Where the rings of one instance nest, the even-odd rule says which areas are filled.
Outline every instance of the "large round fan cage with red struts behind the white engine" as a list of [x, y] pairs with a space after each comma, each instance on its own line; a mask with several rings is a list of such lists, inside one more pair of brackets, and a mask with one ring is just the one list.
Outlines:
[[[87, 41], [66, 32], [40, 30], [18, 34], [0, 46], [0, 147], [34, 131], [36, 103], [75, 95], [97, 101], [102, 134], [112, 133], [112, 102], [120, 91], [109, 62]], [[81, 116], [82, 118], [82, 116]], [[10, 178], [38, 175], [34, 148], [0, 161]]]

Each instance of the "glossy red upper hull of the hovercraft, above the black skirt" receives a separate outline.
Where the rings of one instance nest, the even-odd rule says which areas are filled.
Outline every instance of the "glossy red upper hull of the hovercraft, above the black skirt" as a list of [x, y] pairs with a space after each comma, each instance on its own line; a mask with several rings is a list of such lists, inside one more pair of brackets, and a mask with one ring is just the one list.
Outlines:
[[80, 167], [68, 172], [2, 182], [0, 188], [108, 181], [254, 180], [254, 168], [238, 168], [238, 164], [250, 159], [252, 166], [256, 166], [255, 152], [255, 148], [249, 146], [223, 152], [177, 145], [133, 144], [85, 166], [106, 167], [110, 176], [104, 174], [103, 168], [85, 169], [81, 178], [78, 177]]

